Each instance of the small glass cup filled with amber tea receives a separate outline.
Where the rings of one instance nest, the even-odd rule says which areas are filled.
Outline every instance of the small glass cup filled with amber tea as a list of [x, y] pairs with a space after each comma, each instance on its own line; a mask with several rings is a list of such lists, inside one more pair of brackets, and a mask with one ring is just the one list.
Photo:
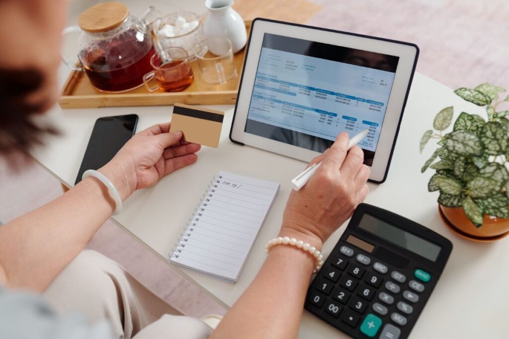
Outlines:
[[[153, 71], [143, 76], [145, 87], [150, 92], [160, 89], [163, 92], [184, 90], [194, 81], [189, 56], [185, 49], [168, 47], [159, 50], [150, 58]], [[157, 86], [150, 85], [152, 79], [157, 80]]]

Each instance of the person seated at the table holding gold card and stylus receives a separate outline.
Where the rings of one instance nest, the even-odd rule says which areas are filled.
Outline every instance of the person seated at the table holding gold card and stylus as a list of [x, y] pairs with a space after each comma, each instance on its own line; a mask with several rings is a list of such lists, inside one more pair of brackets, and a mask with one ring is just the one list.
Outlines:
[[[65, 0], [0, 0], [3, 155], [24, 151], [40, 142], [41, 134], [52, 132], [34, 124], [31, 115], [55, 102], [65, 5]], [[136, 134], [99, 170], [122, 200], [196, 162], [200, 146], [168, 130], [169, 124], [161, 124]], [[279, 236], [321, 250], [363, 201], [370, 170], [362, 164], [359, 147], [347, 153], [348, 141], [348, 134], [340, 134], [313, 160], [323, 164], [302, 190], [291, 193]], [[274, 246], [249, 288], [212, 331], [199, 320], [178, 316], [115, 262], [82, 252], [114, 209], [104, 185], [88, 177], [0, 227], [0, 337], [296, 337], [316, 264], [313, 256], [295, 246]], [[81, 316], [70, 314], [73, 310]]]

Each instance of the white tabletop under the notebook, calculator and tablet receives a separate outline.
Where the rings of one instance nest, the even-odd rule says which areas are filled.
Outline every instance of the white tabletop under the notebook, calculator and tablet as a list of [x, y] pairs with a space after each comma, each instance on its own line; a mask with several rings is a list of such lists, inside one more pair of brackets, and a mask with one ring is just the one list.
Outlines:
[[[61, 69], [61, 82], [66, 74], [67, 71]], [[435, 114], [450, 105], [455, 105], [455, 116], [461, 110], [480, 111], [459, 99], [450, 88], [421, 74], [415, 75], [387, 181], [381, 185], [370, 183], [371, 192], [366, 202], [425, 225], [454, 243], [449, 262], [412, 331], [412, 337], [502, 338], [507, 335], [503, 324], [509, 314], [507, 240], [489, 244], [473, 243], [450, 233], [438, 217], [437, 194], [427, 191], [427, 182], [432, 173], [420, 173], [422, 164], [433, 151], [433, 146], [429, 145], [423, 155], [419, 155], [420, 137], [432, 127]], [[152, 189], [136, 192], [125, 202], [122, 213], [114, 221], [160, 255], [161, 260], [166, 260], [207, 184], [219, 170], [279, 182], [281, 189], [236, 284], [178, 268], [217, 300], [230, 306], [262, 266], [266, 256], [264, 245], [278, 233], [281, 224], [282, 212], [291, 190], [290, 180], [303, 169], [304, 163], [232, 143], [228, 135], [233, 106], [211, 108], [225, 111], [219, 147], [203, 147], [196, 164], [163, 178]], [[49, 137], [45, 147], [34, 150], [33, 156], [70, 186], [76, 178], [98, 117], [136, 113], [139, 115], [139, 131], [170, 120], [172, 110], [172, 106], [67, 110], [57, 106], [51, 110], [49, 118], [64, 134]], [[325, 255], [330, 253], [345, 227], [343, 225], [325, 243]], [[299, 337], [346, 336], [304, 312]]]

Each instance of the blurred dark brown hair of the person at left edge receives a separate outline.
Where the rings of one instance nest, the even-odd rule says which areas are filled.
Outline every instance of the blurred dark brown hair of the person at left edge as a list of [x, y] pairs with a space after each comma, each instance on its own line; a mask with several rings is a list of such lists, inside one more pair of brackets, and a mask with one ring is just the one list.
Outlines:
[[0, 68], [0, 155], [25, 152], [41, 144], [43, 134], [56, 133], [32, 121], [31, 115], [41, 112], [42, 107], [26, 102], [43, 83], [42, 73], [35, 69]]

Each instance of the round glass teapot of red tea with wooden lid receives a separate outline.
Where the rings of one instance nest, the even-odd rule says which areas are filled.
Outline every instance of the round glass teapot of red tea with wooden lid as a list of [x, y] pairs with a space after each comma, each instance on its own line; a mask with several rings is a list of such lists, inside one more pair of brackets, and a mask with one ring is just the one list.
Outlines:
[[119, 93], [143, 85], [143, 76], [152, 71], [150, 58], [155, 53], [150, 23], [161, 14], [150, 7], [139, 19], [129, 15], [122, 3], [103, 3], [81, 13], [78, 26], [67, 27], [64, 34], [81, 32], [75, 71], [84, 71], [94, 87]]

